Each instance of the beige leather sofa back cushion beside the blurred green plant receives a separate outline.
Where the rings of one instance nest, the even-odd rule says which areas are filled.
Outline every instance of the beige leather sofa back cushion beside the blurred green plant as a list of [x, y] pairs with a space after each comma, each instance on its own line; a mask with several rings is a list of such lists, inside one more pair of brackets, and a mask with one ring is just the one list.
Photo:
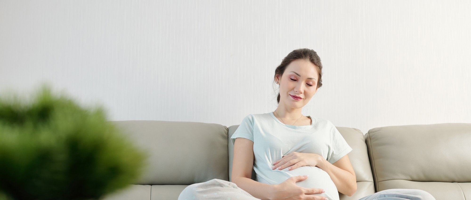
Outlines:
[[135, 184], [189, 185], [228, 180], [227, 127], [190, 121], [112, 121], [148, 154]]

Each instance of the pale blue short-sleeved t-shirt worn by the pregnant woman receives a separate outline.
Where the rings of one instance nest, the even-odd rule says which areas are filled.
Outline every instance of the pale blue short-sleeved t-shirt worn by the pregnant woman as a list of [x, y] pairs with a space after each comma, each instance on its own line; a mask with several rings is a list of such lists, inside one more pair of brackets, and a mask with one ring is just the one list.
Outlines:
[[291, 176], [309, 175], [306, 180], [296, 182], [296, 185], [323, 189], [325, 193], [314, 195], [325, 196], [329, 200], [339, 200], [337, 187], [329, 174], [321, 168], [302, 166], [293, 170], [271, 169], [273, 167], [271, 163], [292, 152], [316, 153], [328, 162], [334, 163], [352, 151], [332, 122], [310, 118], [311, 125], [293, 126], [282, 123], [273, 112], [249, 114], [235, 130], [231, 141], [234, 144], [237, 137], [252, 140], [256, 181], [280, 184]]

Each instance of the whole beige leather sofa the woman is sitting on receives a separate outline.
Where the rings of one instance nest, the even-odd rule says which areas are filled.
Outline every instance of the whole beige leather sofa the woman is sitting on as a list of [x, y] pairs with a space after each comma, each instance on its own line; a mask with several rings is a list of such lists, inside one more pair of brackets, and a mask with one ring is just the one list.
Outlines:
[[[177, 200], [187, 185], [213, 178], [231, 180], [233, 145], [239, 125], [129, 120], [113, 121], [149, 153], [138, 182], [104, 200]], [[337, 127], [353, 148], [349, 158], [358, 200], [392, 188], [421, 189], [437, 200], [471, 200], [471, 123], [372, 128]], [[255, 180], [254, 172], [252, 179]]]

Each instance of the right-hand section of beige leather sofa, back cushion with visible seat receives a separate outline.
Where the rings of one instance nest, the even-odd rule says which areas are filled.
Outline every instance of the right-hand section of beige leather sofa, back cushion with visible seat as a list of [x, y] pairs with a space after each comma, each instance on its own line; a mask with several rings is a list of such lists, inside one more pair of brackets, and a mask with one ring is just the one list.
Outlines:
[[380, 127], [365, 139], [376, 192], [406, 188], [437, 200], [471, 197], [471, 124]]

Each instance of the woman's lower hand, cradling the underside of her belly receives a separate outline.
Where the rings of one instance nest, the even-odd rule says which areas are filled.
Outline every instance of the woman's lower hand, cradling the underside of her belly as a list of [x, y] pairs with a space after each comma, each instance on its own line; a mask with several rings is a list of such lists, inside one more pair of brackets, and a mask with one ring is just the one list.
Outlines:
[[273, 187], [271, 200], [325, 200], [326, 197], [310, 195], [323, 193], [322, 189], [318, 188], [305, 188], [296, 185], [298, 181], [304, 181], [308, 177], [304, 176], [291, 176], [281, 184], [276, 184]]

